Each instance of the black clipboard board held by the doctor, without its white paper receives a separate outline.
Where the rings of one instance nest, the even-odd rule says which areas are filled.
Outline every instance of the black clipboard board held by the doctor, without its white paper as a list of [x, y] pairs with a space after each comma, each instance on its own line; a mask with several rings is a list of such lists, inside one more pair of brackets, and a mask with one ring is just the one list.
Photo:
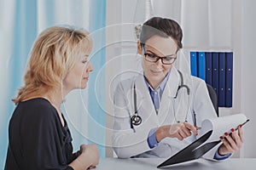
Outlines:
[[[249, 119], [247, 119], [246, 122], [242, 123], [242, 125], [244, 125], [248, 121]], [[207, 151], [211, 150], [214, 146], [216, 146], [221, 142], [221, 140], [216, 140], [216, 141], [205, 143], [207, 139], [211, 136], [211, 134], [212, 134], [212, 130], [208, 131], [207, 133], [202, 135], [201, 138], [196, 139], [194, 142], [189, 144], [183, 150], [180, 150], [175, 155], [171, 156], [166, 161], [162, 162], [160, 165], [157, 166], [157, 168], [166, 167], [166, 166], [170, 166], [177, 163], [182, 163], [184, 161], [193, 161], [205, 155]]]

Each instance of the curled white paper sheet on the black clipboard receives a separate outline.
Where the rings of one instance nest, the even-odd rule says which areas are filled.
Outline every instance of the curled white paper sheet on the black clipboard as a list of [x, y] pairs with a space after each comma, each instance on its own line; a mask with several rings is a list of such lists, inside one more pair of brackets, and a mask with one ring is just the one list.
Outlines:
[[219, 140], [220, 136], [224, 136], [224, 133], [230, 133], [230, 129], [236, 127], [247, 121], [247, 117], [243, 114], [236, 114], [231, 116], [220, 116], [215, 119], [205, 119], [201, 123], [201, 129], [198, 131], [198, 138], [203, 134], [212, 130], [212, 134], [206, 142], [212, 142]]

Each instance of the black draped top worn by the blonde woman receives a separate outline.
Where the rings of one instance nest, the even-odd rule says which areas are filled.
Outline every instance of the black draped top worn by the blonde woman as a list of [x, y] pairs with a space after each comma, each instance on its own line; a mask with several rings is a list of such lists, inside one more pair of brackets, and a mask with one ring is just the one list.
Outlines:
[[[63, 117], [64, 119], [64, 117]], [[5, 170], [73, 169], [72, 137], [55, 107], [37, 98], [20, 102], [9, 122]]]

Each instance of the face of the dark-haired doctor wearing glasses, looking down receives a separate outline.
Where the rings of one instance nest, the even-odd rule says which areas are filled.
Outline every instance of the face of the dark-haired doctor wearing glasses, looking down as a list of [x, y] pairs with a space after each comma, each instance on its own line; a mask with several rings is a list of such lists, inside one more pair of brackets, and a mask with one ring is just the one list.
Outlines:
[[177, 57], [177, 43], [174, 42], [172, 37], [150, 37], [144, 45], [144, 50], [138, 43], [138, 53], [143, 55], [143, 71], [148, 83], [152, 86], [152, 88], [156, 88], [160, 82], [164, 80], [168, 71], [170, 71], [172, 68], [172, 64], [175, 59], [173, 59], [173, 62], [170, 62], [172, 63], [171, 65], [164, 65], [161, 59], [158, 59], [156, 62], [150, 62], [148, 60], [152, 60], [150, 56], [157, 56], [160, 58], [170, 57], [169, 59]]

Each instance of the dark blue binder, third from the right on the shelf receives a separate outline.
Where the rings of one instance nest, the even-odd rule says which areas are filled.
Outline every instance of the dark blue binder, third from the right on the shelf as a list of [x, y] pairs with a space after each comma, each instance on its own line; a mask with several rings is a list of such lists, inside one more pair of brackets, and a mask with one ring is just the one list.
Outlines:
[[218, 94], [218, 52], [212, 52], [212, 88]]

